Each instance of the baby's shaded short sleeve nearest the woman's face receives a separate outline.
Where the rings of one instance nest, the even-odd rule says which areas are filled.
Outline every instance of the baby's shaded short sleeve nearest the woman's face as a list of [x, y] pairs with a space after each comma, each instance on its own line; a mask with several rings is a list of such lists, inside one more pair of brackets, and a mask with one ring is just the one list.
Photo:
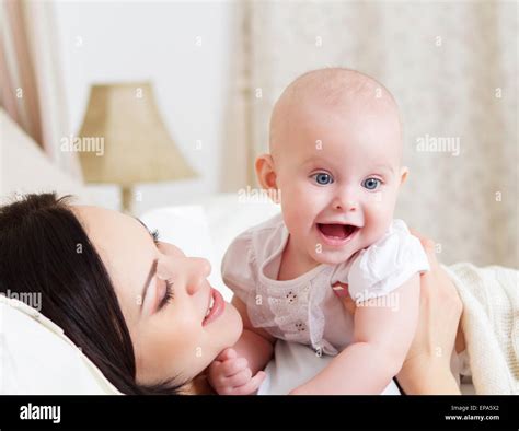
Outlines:
[[223, 256], [221, 275], [226, 286], [247, 303], [249, 295], [255, 292], [255, 257], [252, 249], [251, 232], [245, 231], [237, 236]]

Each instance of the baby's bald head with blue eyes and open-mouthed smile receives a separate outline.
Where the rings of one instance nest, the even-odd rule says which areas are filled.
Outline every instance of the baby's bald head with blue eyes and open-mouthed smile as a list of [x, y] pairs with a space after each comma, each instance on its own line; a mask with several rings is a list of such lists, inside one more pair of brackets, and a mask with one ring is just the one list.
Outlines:
[[[407, 176], [401, 159], [391, 93], [354, 70], [323, 69], [281, 94], [270, 120], [270, 154], [260, 155], [255, 167], [261, 186], [281, 205], [301, 265], [307, 259], [313, 267], [344, 263], [384, 235]], [[355, 237], [341, 220], [359, 229]], [[337, 224], [328, 231], [326, 223]]]

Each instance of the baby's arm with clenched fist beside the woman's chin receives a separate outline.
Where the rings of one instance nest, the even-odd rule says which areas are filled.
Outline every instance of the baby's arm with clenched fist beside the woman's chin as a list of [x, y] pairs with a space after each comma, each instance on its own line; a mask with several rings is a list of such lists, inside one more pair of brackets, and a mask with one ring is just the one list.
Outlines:
[[274, 337], [251, 325], [245, 304], [234, 295], [232, 304], [243, 321], [243, 333], [231, 349], [226, 349], [211, 363], [209, 383], [220, 395], [247, 395], [260, 387], [265, 373], [261, 370], [274, 352]]

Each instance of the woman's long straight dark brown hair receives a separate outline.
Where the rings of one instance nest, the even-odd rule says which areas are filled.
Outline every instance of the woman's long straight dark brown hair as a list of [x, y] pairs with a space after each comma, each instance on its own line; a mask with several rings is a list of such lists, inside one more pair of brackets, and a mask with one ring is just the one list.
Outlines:
[[181, 393], [185, 385], [136, 383], [134, 347], [112, 280], [69, 198], [26, 195], [0, 207], [0, 292], [41, 294], [42, 314], [122, 393]]

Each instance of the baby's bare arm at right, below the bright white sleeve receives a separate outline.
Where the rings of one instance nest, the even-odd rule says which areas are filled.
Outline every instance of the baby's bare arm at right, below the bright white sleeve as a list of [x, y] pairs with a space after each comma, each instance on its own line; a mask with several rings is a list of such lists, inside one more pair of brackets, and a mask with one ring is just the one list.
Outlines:
[[354, 342], [337, 354], [315, 377], [291, 395], [381, 394], [405, 360], [418, 323], [419, 276], [393, 291], [391, 306], [358, 306]]

